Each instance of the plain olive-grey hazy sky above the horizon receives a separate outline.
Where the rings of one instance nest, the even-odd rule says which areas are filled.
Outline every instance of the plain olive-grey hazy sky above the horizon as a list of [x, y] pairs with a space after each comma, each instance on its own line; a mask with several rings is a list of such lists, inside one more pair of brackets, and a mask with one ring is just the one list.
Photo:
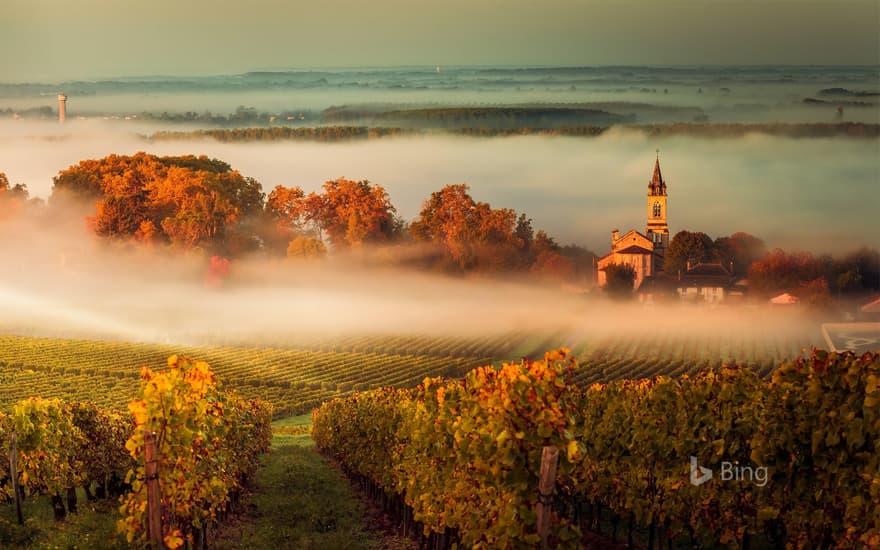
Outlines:
[[0, 80], [383, 65], [880, 64], [877, 0], [0, 0]]

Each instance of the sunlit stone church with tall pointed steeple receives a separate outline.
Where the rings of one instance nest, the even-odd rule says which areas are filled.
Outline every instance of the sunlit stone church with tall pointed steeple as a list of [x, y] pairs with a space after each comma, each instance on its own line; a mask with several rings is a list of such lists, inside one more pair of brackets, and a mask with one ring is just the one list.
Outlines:
[[642, 281], [663, 271], [663, 257], [669, 246], [669, 226], [666, 223], [666, 181], [660, 172], [660, 152], [654, 162], [654, 174], [648, 182], [647, 224], [645, 233], [631, 229], [620, 234], [611, 232], [611, 252], [598, 261], [598, 283], [605, 286], [605, 268], [611, 264], [627, 264], [636, 272], [634, 288]]

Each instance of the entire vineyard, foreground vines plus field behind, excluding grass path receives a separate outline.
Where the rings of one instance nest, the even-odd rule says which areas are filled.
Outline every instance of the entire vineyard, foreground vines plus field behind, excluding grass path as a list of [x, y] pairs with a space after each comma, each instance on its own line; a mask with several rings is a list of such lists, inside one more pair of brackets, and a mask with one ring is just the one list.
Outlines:
[[[528, 359], [566, 341], [579, 362]], [[0, 336], [0, 447], [20, 434], [22, 485], [62, 515], [65, 497], [75, 510], [72, 487], [104, 480], [100, 496], [122, 496], [118, 530], [133, 544], [150, 536], [147, 434], [176, 480], [163, 485], [163, 544], [198, 547], [258, 466], [274, 406], [276, 417], [315, 409], [318, 447], [436, 547], [533, 546], [541, 451], [552, 445], [554, 546], [606, 529], [649, 547], [875, 548], [878, 359], [804, 359], [814, 341], [744, 327], [275, 347]], [[768, 487], [693, 487], [688, 456], [715, 471], [722, 460], [768, 465]]]

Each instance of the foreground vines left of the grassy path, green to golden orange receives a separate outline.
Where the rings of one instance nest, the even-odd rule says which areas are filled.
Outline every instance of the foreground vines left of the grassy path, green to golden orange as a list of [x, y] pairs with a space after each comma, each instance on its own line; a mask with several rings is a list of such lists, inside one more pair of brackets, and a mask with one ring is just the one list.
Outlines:
[[[89, 502], [119, 499], [128, 544], [204, 547], [269, 448], [271, 405], [222, 390], [207, 363], [176, 355], [144, 368], [138, 386], [127, 412], [29, 397], [0, 413], [0, 501], [14, 501], [19, 530], [25, 499], [47, 495], [63, 520], [81, 488]], [[0, 543], [13, 542], [0, 526]]]

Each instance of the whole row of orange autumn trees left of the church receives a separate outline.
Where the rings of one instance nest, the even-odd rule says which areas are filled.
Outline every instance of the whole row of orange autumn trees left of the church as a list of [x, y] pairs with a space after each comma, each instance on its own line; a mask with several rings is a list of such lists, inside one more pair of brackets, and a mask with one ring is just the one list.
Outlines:
[[[386, 250], [377, 257], [552, 283], [592, 276], [591, 252], [559, 246], [535, 232], [525, 214], [474, 200], [465, 184], [433, 193], [407, 224], [385, 189], [367, 180], [338, 178], [311, 193], [276, 185], [266, 196], [253, 178], [205, 156], [110, 155], [71, 166], [54, 182], [52, 204], [84, 203], [96, 235], [147, 246], [230, 259], [246, 252], [316, 259], [398, 247], [397, 255]], [[222, 277], [209, 278], [216, 286]]]

